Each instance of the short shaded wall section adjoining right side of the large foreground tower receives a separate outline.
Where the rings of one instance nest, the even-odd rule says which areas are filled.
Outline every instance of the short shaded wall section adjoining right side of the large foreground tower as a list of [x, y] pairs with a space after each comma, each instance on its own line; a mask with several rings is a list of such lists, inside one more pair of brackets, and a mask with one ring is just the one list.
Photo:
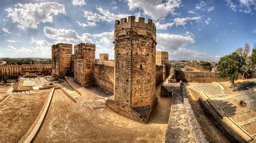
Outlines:
[[156, 86], [161, 84], [166, 78], [166, 66], [156, 65]]

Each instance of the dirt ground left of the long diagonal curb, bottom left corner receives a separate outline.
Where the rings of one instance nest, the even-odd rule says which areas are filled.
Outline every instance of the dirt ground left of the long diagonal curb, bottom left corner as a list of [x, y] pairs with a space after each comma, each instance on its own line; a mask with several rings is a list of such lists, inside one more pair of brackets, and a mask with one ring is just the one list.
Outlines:
[[0, 105], [0, 142], [17, 142], [29, 130], [50, 90], [11, 95]]

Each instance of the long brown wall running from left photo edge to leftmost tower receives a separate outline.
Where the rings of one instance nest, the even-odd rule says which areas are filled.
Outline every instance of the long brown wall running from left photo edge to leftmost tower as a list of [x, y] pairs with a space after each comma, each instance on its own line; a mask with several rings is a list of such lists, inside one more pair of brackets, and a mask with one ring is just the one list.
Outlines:
[[29, 73], [39, 74], [50, 74], [51, 65], [50, 64], [37, 64], [37, 65], [1, 65], [0, 66], [0, 76], [5, 78], [23, 76]]

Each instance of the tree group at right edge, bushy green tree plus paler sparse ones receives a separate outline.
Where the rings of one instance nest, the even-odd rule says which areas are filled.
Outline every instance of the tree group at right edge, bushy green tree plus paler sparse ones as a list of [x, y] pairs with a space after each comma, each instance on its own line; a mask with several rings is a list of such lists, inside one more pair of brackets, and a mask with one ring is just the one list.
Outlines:
[[242, 79], [248, 77], [256, 78], [256, 43], [252, 51], [250, 45], [245, 44], [244, 48], [238, 47], [235, 52], [220, 58], [217, 65], [220, 76], [228, 78], [234, 91], [234, 80], [238, 79], [239, 73], [242, 74]]

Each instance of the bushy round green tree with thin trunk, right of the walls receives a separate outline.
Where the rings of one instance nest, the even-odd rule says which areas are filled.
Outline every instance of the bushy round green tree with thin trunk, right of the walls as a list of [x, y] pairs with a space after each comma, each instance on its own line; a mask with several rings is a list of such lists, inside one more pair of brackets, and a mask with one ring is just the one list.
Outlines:
[[233, 52], [232, 55], [226, 55], [220, 58], [217, 65], [220, 76], [228, 78], [234, 91], [234, 80], [238, 78], [238, 74], [242, 72], [242, 66], [245, 65], [244, 57], [240, 56], [237, 52]]

